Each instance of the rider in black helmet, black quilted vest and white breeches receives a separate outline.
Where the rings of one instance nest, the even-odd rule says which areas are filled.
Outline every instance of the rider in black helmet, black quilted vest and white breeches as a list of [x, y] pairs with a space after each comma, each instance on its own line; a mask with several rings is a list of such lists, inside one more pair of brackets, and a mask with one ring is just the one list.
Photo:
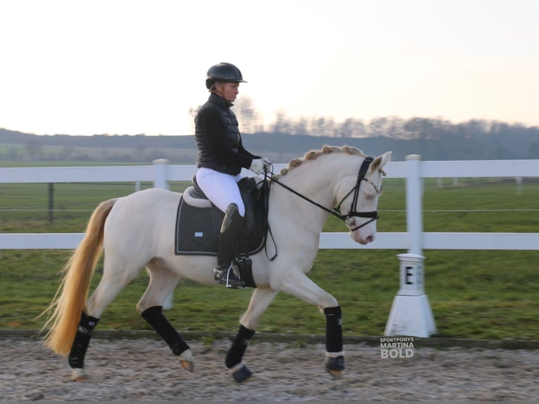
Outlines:
[[270, 160], [249, 153], [241, 143], [238, 120], [230, 107], [244, 83], [239, 68], [232, 63], [213, 65], [206, 74], [208, 101], [195, 117], [198, 147], [196, 182], [204, 194], [225, 213], [217, 244], [215, 282], [237, 288], [245, 284], [234, 270], [234, 253], [243, 226], [245, 206], [237, 182], [241, 168], [260, 175]]

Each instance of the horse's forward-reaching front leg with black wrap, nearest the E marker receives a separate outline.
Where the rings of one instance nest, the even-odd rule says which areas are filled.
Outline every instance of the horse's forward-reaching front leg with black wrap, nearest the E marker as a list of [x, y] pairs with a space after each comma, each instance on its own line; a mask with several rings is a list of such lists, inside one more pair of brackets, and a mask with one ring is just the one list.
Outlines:
[[324, 309], [326, 315], [326, 359], [324, 365], [331, 376], [341, 377], [344, 370], [341, 306], [338, 305], [333, 296], [303, 273], [287, 279], [282, 290]]

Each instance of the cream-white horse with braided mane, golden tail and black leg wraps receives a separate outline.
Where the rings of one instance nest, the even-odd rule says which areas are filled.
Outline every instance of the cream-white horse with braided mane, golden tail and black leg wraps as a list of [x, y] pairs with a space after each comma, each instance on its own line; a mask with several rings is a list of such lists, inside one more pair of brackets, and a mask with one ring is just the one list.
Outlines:
[[[253, 374], [243, 362], [243, 354], [260, 317], [280, 291], [323, 311], [324, 367], [331, 377], [341, 377], [345, 369], [341, 306], [307, 273], [330, 214], [345, 222], [357, 243], [374, 241], [376, 207], [386, 175], [383, 167], [390, 160], [391, 151], [373, 158], [351, 146], [324, 146], [262, 179], [272, 184], [267, 224], [278, 253], [270, 257], [267, 251], [260, 251], [251, 256], [256, 287], [225, 360], [236, 382], [246, 381]], [[68, 357], [72, 380], [87, 377], [84, 358], [94, 327], [106, 307], [143, 267], [149, 282], [136, 309], [177, 355], [180, 365], [194, 371], [191, 349], [163, 314], [163, 304], [181, 278], [215, 284], [215, 256], [174, 253], [172, 224], [181, 197], [167, 189], [145, 189], [103, 201], [91, 214], [80, 245], [63, 268], [56, 296], [44, 311], [48, 318], [42, 328], [46, 332], [44, 345]], [[91, 277], [102, 253], [103, 274], [88, 298]]]

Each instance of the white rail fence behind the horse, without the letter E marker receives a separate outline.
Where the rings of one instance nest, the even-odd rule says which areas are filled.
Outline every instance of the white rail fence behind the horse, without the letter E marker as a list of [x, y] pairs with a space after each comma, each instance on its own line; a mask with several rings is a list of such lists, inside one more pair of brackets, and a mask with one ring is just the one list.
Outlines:
[[[275, 165], [275, 169], [284, 168]], [[426, 233], [423, 232], [422, 178], [455, 177], [539, 177], [539, 160], [465, 160], [421, 161], [407, 156], [391, 162], [388, 178], [406, 179], [407, 232], [380, 232], [376, 241], [360, 246], [346, 233], [322, 233], [320, 248], [405, 249], [421, 254], [422, 249], [452, 250], [537, 250], [539, 233]], [[153, 182], [167, 188], [169, 181], [188, 181], [196, 172], [194, 165], [169, 165], [155, 160], [153, 165], [120, 167], [0, 168], [0, 183], [59, 182]], [[72, 249], [82, 233], [0, 234], [0, 249]]]

